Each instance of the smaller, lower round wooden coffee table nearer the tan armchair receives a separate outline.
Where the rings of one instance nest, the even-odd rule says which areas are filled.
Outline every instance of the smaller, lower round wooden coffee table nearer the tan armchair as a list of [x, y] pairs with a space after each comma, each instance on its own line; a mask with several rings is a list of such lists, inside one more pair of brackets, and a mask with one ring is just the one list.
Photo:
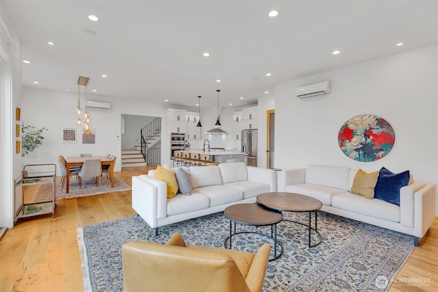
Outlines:
[[[283, 246], [276, 240], [276, 224], [283, 220], [283, 214], [279, 211], [270, 211], [258, 204], [234, 204], [224, 210], [224, 215], [230, 220], [230, 235], [224, 241], [224, 247], [227, 248], [227, 241], [229, 240], [229, 249], [231, 250], [231, 239], [234, 235], [242, 233], [254, 233], [262, 237], [268, 237], [274, 241], [274, 257], [269, 261], [274, 261], [283, 254]], [[234, 223], [234, 233], [232, 224]], [[244, 224], [250, 226], [271, 226], [271, 235], [263, 233], [255, 233], [252, 231], [244, 231], [236, 233], [235, 224]], [[281, 250], [279, 254], [276, 252], [276, 245], [279, 245]]]

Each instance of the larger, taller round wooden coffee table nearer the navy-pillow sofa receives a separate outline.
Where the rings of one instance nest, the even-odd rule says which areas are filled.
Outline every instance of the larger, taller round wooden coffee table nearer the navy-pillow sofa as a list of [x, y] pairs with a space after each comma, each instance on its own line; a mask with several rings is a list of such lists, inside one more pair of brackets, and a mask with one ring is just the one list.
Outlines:
[[[322, 207], [322, 202], [319, 200], [305, 195], [275, 191], [260, 194], [257, 196], [257, 203], [278, 211], [309, 212], [309, 222], [307, 224], [292, 220], [283, 221], [294, 222], [309, 228], [309, 248], [313, 248], [322, 242], [322, 236], [318, 231], [318, 210]], [[312, 212], [315, 212], [315, 228], [311, 226]], [[311, 230], [315, 231], [320, 237], [320, 240], [314, 244], [311, 244]]]

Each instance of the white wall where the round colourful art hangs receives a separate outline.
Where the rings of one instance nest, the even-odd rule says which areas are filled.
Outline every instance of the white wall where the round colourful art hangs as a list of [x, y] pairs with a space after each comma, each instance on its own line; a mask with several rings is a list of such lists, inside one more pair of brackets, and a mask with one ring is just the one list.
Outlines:
[[[437, 71], [434, 44], [277, 85], [276, 167], [314, 163], [372, 171], [385, 166], [438, 184]], [[331, 94], [295, 97], [297, 87], [326, 80]], [[381, 116], [393, 127], [394, 148], [383, 159], [354, 161], [340, 150], [340, 127], [359, 114]]]

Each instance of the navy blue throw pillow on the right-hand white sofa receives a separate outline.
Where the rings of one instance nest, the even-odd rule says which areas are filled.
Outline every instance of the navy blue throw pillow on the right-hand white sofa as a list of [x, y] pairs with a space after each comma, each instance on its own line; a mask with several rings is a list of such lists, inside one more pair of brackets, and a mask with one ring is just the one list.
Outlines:
[[400, 206], [400, 188], [409, 183], [409, 170], [394, 174], [386, 168], [378, 172], [374, 198]]

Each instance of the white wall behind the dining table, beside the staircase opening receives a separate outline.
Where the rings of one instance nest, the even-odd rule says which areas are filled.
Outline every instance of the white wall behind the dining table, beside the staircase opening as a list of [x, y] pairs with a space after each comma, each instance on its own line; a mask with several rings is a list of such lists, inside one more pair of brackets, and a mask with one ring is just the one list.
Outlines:
[[[75, 82], [75, 81], [72, 81]], [[77, 156], [80, 153], [106, 155], [112, 153], [121, 155], [121, 116], [122, 114], [136, 116], [162, 117], [164, 107], [142, 101], [127, 101], [124, 98], [109, 96], [94, 96], [88, 94], [92, 101], [106, 101], [112, 104], [109, 110], [90, 110], [92, 127], [96, 131], [95, 144], [82, 144], [81, 128], [77, 127], [77, 143], [63, 144], [62, 130], [75, 127], [75, 108], [77, 94], [57, 92], [53, 90], [38, 90], [23, 88], [21, 115], [26, 124], [37, 128], [46, 127], [44, 142], [30, 155], [23, 157], [23, 165], [30, 163], [57, 163], [58, 155]], [[120, 171], [121, 159], [116, 160], [115, 171]], [[59, 174], [59, 173], [58, 173]]]

